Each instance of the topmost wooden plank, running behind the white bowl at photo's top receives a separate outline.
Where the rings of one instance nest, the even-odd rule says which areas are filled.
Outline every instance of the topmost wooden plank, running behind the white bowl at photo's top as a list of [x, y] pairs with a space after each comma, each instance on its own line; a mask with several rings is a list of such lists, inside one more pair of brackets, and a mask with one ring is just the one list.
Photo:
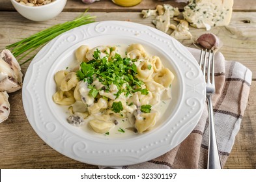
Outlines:
[[[162, 4], [170, 4], [175, 7], [182, 9], [185, 3], [177, 3], [174, 0], [168, 1], [157, 1], [157, 0], [143, 0], [139, 5], [125, 8], [122, 6], [115, 5], [111, 0], [102, 0], [92, 3], [91, 5], [86, 5], [81, 0], [68, 0], [64, 11], [72, 11], [72, 12], [83, 12], [85, 9], [90, 8], [90, 11], [98, 11], [98, 12], [113, 12], [113, 11], [141, 11], [142, 9], [148, 9], [155, 7], [156, 5]], [[14, 7], [10, 0], [1, 0], [0, 1], [0, 11], [14, 11]], [[241, 0], [234, 0], [234, 11], [256, 11], [256, 1], [255, 0], [246, 0], [246, 3]]]

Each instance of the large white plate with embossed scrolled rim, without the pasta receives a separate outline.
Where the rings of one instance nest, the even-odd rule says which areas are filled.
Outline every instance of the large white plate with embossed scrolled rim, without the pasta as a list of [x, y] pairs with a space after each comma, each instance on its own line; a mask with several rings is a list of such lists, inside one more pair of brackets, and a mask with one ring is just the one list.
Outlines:
[[[111, 138], [68, 124], [64, 110], [53, 103], [53, 75], [72, 64], [79, 45], [134, 43], [158, 55], [175, 74], [173, 99], [158, 125], [142, 135]], [[203, 112], [205, 81], [197, 61], [171, 36], [137, 23], [102, 21], [65, 32], [44, 46], [27, 69], [22, 97], [29, 122], [51, 148], [88, 164], [119, 166], [154, 159], [180, 144]]]

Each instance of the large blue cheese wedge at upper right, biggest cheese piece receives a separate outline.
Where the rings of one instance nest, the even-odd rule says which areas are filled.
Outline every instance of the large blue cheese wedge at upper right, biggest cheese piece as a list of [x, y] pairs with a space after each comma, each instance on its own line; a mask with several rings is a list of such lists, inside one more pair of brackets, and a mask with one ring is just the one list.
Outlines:
[[233, 0], [190, 0], [184, 7], [183, 16], [190, 25], [206, 28], [229, 25]]

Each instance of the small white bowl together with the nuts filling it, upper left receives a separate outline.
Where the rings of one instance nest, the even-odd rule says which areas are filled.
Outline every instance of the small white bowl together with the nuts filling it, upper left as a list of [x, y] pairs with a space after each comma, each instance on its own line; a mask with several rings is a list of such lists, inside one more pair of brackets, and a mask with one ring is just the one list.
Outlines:
[[10, 0], [14, 8], [21, 16], [33, 21], [46, 21], [59, 15], [66, 0], [42, 1], [42, 0]]

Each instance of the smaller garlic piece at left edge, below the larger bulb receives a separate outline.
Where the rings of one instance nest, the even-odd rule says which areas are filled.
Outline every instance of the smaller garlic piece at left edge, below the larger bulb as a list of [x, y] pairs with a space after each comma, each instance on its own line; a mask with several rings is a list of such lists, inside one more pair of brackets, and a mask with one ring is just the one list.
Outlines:
[[0, 123], [7, 120], [10, 114], [10, 103], [7, 92], [0, 92]]

